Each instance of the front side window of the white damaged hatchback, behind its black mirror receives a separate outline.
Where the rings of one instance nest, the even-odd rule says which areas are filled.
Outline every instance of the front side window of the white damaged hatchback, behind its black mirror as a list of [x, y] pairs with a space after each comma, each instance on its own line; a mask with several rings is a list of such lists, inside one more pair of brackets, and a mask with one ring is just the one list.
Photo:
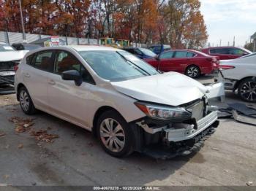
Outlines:
[[83, 82], [95, 84], [94, 79], [91, 77], [91, 74], [89, 74], [89, 71], [85, 69], [82, 63], [80, 63], [74, 55], [66, 51], [58, 51], [56, 53], [54, 73], [61, 74], [68, 70], [78, 71], [83, 78]]

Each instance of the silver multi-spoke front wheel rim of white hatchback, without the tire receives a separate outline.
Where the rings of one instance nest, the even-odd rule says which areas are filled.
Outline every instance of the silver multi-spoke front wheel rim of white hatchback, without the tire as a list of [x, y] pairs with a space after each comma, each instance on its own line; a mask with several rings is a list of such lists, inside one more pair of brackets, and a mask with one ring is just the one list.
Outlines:
[[99, 135], [102, 143], [111, 152], [120, 152], [124, 149], [124, 129], [116, 120], [111, 118], [103, 120], [99, 127]]

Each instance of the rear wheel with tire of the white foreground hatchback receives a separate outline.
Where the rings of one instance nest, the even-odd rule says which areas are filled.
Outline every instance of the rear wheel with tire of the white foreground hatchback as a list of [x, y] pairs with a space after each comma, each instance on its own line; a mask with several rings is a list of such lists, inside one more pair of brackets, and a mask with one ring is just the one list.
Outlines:
[[26, 87], [20, 87], [18, 97], [20, 101], [20, 107], [25, 114], [31, 115], [36, 113], [33, 101], [31, 100], [29, 91], [26, 89]]

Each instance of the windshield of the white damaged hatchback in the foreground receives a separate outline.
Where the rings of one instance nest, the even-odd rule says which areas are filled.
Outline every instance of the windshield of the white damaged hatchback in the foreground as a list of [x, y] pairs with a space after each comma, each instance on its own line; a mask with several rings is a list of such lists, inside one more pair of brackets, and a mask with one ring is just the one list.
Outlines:
[[159, 74], [148, 63], [126, 51], [90, 50], [79, 51], [99, 77], [113, 82]]

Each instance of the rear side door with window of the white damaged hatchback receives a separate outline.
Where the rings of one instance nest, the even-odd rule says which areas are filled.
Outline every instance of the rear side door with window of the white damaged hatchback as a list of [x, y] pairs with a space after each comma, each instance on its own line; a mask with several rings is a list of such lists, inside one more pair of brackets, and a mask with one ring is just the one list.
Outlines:
[[47, 109], [48, 74], [53, 72], [53, 50], [37, 52], [28, 57], [23, 69], [23, 79], [37, 108]]

